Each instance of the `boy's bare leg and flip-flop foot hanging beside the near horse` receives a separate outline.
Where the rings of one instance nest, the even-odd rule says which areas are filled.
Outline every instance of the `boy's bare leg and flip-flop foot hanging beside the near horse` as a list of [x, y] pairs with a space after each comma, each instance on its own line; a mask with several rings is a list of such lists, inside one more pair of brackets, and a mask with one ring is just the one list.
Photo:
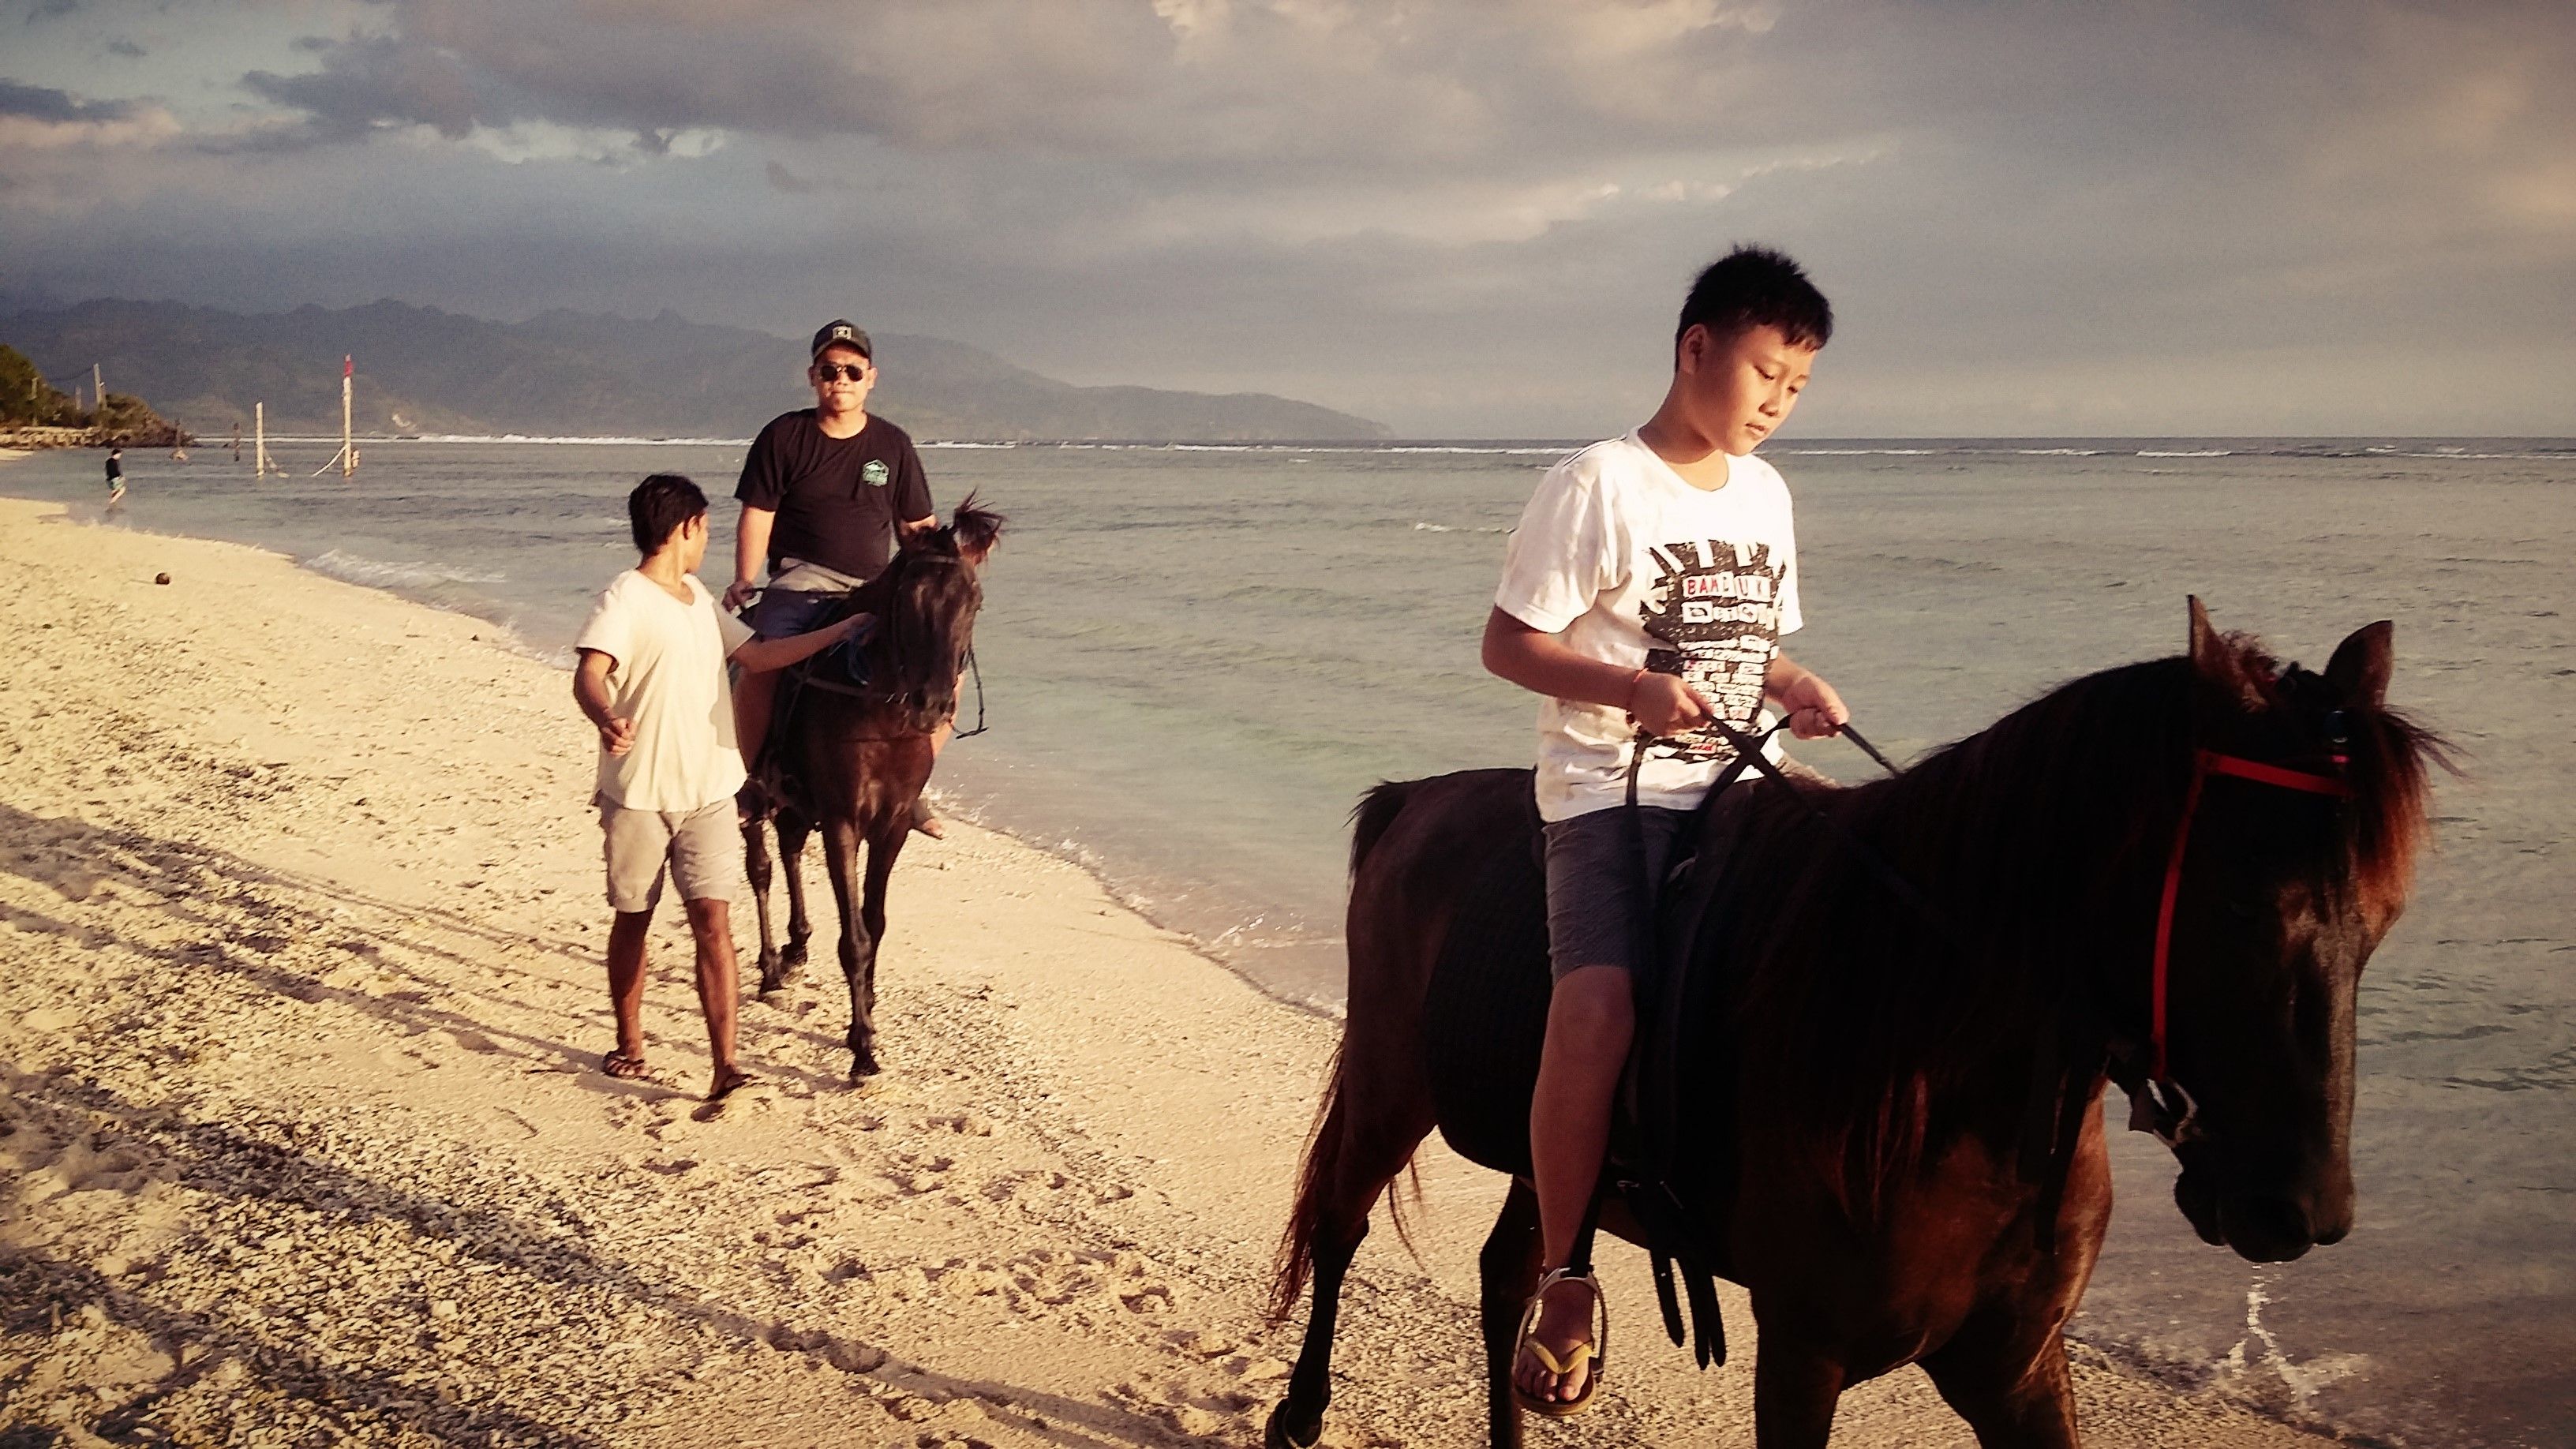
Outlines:
[[[1543, 1266], [1564, 1269], [1574, 1235], [1600, 1186], [1610, 1142], [1610, 1096], [1628, 1065], [1636, 1034], [1636, 998], [1620, 967], [1566, 972], [1548, 998], [1548, 1044], [1538, 1052], [1538, 1093], [1530, 1098], [1530, 1168], [1538, 1178], [1538, 1238]], [[1592, 1343], [1592, 1289], [1556, 1284], [1530, 1333], [1561, 1361], [1577, 1343]], [[1520, 1390], [1538, 1400], [1582, 1397], [1589, 1366], [1551, 1374], [1535, 1354], [1512, 1361]]]

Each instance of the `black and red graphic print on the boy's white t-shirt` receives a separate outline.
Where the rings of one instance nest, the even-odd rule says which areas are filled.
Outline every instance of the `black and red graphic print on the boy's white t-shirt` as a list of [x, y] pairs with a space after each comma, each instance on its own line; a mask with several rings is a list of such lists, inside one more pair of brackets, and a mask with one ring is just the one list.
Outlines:
[[[1654, 645], [1646, 668], [1682, 676], [1700, 691], [1718, 719], [1736, 732], [1752, 732], [1762, 717], [1762, 681], [1780, 652], [1780, 575], [1770, 544], [1731, 544], [1698, 539], [1646, 549], [1656, 580], [1638, 608], [1638, 624]], [[1680, 740], [1656, 740], [1649, 755], [1680, 761], [1728, 761], [1728, 745], [1713, 730]]]

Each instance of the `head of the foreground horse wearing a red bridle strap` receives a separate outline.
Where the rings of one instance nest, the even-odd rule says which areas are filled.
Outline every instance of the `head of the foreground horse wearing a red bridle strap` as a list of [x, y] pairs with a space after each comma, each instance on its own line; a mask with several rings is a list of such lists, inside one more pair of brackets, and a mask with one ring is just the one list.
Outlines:
[[2259, 1263], [2352, 1230], [2354, 995], [2406, 902], [2442, 758], [2388, 712], [2388, 665], [2385, 621], [2318, 676], [2192, 601], [2197, 810], [2166, 856], [2166, 1024], [2120, 1075], [2133, 1096], [2156, 1078], [2164, 1101], [2138, 1116], [2182, 1163], [2182, 1214]]

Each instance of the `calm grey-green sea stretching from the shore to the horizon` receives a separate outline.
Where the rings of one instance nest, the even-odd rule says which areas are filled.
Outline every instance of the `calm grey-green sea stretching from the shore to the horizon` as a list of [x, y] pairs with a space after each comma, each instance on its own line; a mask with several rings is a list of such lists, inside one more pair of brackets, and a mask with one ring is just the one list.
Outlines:
[[[309, 469], [332, 446], [281, 451]], [[1533, 704], [1476, 668], [1476, 632], [1502, 534], [1561, 451], [925, 451], [943, 508], [974, 487], [1012, 516], [979, 627], [992, 732], [943, 761], [948, 807], [1074, 853], [1267, 990], [1329, 1008], [1358, 792], [1530, 755]], [[2388, 1444], [2576, 1444], [2576, 443], [1765, 456], [1798, 498], [1808, 629], [1790, 652], [1899, 758], [2076, 673], [2177, 652], [2184, 593], [2311, 665], [2396, 619], [2393, 699], [2465, 748], [2470, 779], [2442, 786], [2437, 853], [2362, 990], [2360, 1227], [2251, 1269], [2190, 1235], [2172, 1160], [2123, 1137], [2079, 1333]], [[559, 657], [631, 559], [626, 487], [675, 469], [721, 498], [739, 462], [739, 443], [379, 441], [350, 482], [252, 482], [216, 449], [134, 454], [116, 526], [273, 547]], [[95, 516], [98, 454], [8, 464], [0, 490]], [[1801, 755], [1870, 771], [1844, 745]]]

